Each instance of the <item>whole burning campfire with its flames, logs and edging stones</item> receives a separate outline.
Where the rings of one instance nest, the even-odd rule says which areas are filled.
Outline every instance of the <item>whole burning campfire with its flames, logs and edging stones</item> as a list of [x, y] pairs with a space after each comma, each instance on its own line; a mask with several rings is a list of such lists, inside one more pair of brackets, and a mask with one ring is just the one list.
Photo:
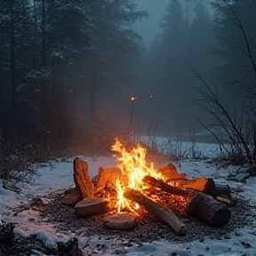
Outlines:
[[101, 166], [90, 177], [88, 164], [74, 159], [74, 188], [62, 204], [74, 207], [81, 217], [104, 214], [104, 228], [132, 230], [136, 218], [150, 212], [177, 235], [186, 235], [188, 227], [177, 213], [191, 215], [213, 227], [222, 227], [230, 219], [232, 203], [228, 185], [217, 185], [211, 178], [189, 180], [174, 164], [156, 169], [147, 163], [147, 150], [140, 145], [132, 150], [116, 139], [116, 167]]

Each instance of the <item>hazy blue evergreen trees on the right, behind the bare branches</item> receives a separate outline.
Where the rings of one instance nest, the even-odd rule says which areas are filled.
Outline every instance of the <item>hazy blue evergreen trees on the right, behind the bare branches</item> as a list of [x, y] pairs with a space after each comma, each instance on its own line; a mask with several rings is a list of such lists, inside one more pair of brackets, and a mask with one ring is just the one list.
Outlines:
[[253, 93], [255, 96], [256, 2], [213, 0], [210, 3], [170, 0], [162, 30], [149, 51], [150, 72], [145, 88], [155, 96], [150, 116], [158, 117], [159, 126], [169, 136], [176, 135], [180, 129], [187, 133], [200, 129], [196, 119], [205, 121], [211, 117], [211, 113], [198, 112], [197, 103], [202, 95], [195, 90], [200, 81], [195, 79], [193, 70], [204, 77], [214, 92], [217, 88], [231, 116], [237, 118], [244, 112], [244, 101], [248, 101], [250, 90], [251, 98]]

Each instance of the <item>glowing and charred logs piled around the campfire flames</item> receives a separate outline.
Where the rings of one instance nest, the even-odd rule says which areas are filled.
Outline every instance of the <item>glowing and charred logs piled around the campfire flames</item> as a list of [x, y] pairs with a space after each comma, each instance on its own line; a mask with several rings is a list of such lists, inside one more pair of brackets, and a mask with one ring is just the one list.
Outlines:
[[[168, 164], [158, 172], [161, 173], [163, 180], [145, 176], [143, 183], [147, 189], [138, 191], [126, 186], [124, 196], [151, 212], [157, 220], [164, 222], [177, 235], [185, 235], [188, 228], [170, 207], [161, 204], [161, 198], [158, 198], [157, 203], [151, 198], [159, 191], [164, 191], [179, 202], [180, 207], [175, 209], [178, 212], [186, 212], [213, 227], [227, 224], [230, 219], [228, 205], [232, 203], [228, 185], [217, 185], [214, 180], [205, 177], [189, 180], [186, 174], [177, 172], [173, 164]], [[91, 179], [88, 164], [76, 157], [74, 159], [76, 188], [62, 199], [62, 204], [75, 207], [77, 214], [83, 217], [111, 212], [116, 207], [116, 179], [128, 185], [127, 177], [118, 168], [100, 167], [98, 175]], [[116, 214], [112, 217], [115, 221], [120, 218]], [[121, 218], [131, 224], [132, 220], [127, 215]], [[136, 225], [129, 227], [134, 228]]]

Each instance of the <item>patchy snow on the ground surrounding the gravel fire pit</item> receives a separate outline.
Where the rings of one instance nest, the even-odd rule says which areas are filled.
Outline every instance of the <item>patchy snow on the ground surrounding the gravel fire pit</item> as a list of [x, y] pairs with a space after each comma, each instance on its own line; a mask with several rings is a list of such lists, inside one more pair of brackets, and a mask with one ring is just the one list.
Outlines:
[[[206, 147], [207, 146], [207, 147]], [[211, 147], [206, 145], [207, 150], [211, 151]], [[206, 150], [206, 149], [205, 149]], [[212, 149], [213, 150], [213, 149]], [[100, 156], [100, 157], [83, 157], [85, 161], [88, 162], [89, 172], [91, 177], [97, 174], [98, 168], [100, 166], [113, 167], [116, 166], [116, 161], [113, 156]], [[40, 196], [45, 203], [47, 203], [46, 197], [44, 195], [49, 194], [51, 191], [58, 189], [71, 188], [74, 187], [73, 180], [73, 159], [68, 161], [52, 162], [44, 166], [38, 167], [38, 172], [34, 176], [34, 180], [29, 184], [24, 184], [20, 194], [13, 193], [2, 188], [0, 180], [0, 219], [9, 220], [16, 223], [15, 230], [22, 233], [24, 236], [29, 236], [30, 234], [37, 234], [38, 238], [44, 240], [45, 244], [49, 246], [55, 246], [56, 241], [67, 242], [74, 235], [56, 232], [52, 224], [40, 224], [36, 223], [36, 216], [39, 214], [36, 211], [30, 209], [19, 212], [19, 214], [13, 214], [13, 209], [15, 209], [20, 204], [25, 204], [29, 198]], [[187, 173], [188, 177], [199, 177], [206, 176], [213, 178], [219, 184], [227, 184], [228, 172], [232, 172], [232, 168], [228, 167], [222, 168], [218, 165], [208, 164], [204, 160], [181, 160], [176, 164], [179, 172]], [[237, 167], [236, 167], [237, 168]], [[255, 196], [255, 184], [256, 178], [249, 179], [246, 183], [239, 183], [228, 180], [228, 184], [232, 188], [240, 188], [241, 194], [245, 197], [250, 198], [252, 202], [252, 207], [256, 205]], [[254, 212], [255, 213], [255, 212]], [[254, 217], [256, 214], [254, 214]], [[243, 218], [243, 216], [241, 216]], [[227, 235], [227, 234], [226, 234]], [[97, 236], [90, 237], [91, 247], [93, 244], [97, 244]], [[79, 237], [79, 243], [88, 243], [88, 237]], [[101, 237], [102, 243], [102, 237]], [[246, 242], [244, 244], [244, 241]], [[106, 243], [110, 241], [106, 240]], [[113, 241], [111, 241], [113, 244]], [[171, 241], [157, 241], [154, 243], [145, 243], [141, 246], [136, 244], [118, 249], [118, 241], [115, 242], [116, 247], [112, 248], [109, 246], [108, 252], [101, 254], [100, 251], [96, 249], [92, 252], [92, 255], [127, 255], [127, 256], [146, 256], [146, 255], [156, 255], [156, 256], [194, 256], [194, 255], [223, 255], [223, 256], [238, 256], [238, 255], [256, 255], [256, 221], [252, 220], [252, 223], [244, 228], [239, 228], [228, 234], [228, 236], [219, 237], [219, 239], [211, 239], [205, 237], [203, 240], [195, 240], [193, 242], [177, 243]], [[111, 249], [112, 248], [112, 249]], [[119, 251], [118, 251], [119, 250]], [[37, 255], [43, 255], [36, 252]], [[35, 254], [36, 255], [36, 254]]]

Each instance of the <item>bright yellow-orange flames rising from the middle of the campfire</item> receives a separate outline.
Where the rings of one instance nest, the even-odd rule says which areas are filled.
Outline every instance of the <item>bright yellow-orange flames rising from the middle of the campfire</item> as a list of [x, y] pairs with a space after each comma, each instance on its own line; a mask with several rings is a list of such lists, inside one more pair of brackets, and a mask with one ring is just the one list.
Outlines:
[[[143, 188], [142, 180], [146, 175], [161, 179], [161, 174], [156, 172], [154, 164], [151, 163], [148, 166], [146, 163], [147, 150], [145, 148], [138, 145], [137, 148], [132, 148], [131, 152], [128, 152], [122, 143], [116, 139], [116, 143], [111, 149], [116, 152], [117, 166], [128, 179], [128, 186], [126, 184], [126, 187], [141, 191]], [[139, 209], [139, 204], [135, 204], [133, 207], [124, 197], [124, 189], [124, 184], [121, 184], [120, 180], [116, 180], [117, 212], [121, 212], [125, 207], [136, 212]]]

